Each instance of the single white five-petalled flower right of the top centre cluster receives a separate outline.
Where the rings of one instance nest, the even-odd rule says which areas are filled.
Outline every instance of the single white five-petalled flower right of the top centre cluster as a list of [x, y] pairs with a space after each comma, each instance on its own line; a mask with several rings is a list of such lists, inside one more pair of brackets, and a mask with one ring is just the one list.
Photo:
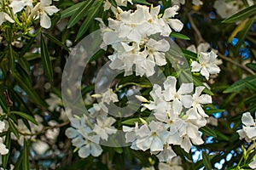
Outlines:
[[216, 65], [217, 54], [214, 52], [210, 53], [200, 53], [199, 63], [197, 61], [193, 61], [191, 64], [191, 71], [200, 71], [201, 75], [209, 79], [210, 74], [219, 73], [220, 69], [218, 65]]

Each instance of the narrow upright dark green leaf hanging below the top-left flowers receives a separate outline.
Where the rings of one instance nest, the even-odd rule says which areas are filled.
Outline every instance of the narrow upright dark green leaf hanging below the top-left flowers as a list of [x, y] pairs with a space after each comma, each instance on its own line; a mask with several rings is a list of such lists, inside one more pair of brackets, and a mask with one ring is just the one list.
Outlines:
[[44, 65], [44, 71], [47, 77], [52, 81], [53, 80], [53, 70], [52, 65], [49, 59], [48, 48], [44, 42], [43, 34], [41, 34], [41, 59]]

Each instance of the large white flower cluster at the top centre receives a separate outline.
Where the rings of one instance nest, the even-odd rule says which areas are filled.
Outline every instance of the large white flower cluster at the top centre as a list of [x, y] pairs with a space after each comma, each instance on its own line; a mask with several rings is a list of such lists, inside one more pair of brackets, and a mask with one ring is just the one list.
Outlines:
[[165, 53], [170, 45], [165, 39], [155, 40], [152, 35], [168, 37], [172, 29], [182, 30], [183, 23], [173, 19], [178, 8], [177, 5], [166, 8], [164, 14], [160, 14], [160, 6], [149, 9], [137, 5], [135, 11], [119, 8], [116, 20], [109, 18], [108, 27], [101, 25], [103, 42], [114, 49], [113, 55], [108, 56], [110, 67], [125, 70], [128, 76], [135, 65], [137, 75], [149, 77], [154, 74], [155, 65], [166, 65]]

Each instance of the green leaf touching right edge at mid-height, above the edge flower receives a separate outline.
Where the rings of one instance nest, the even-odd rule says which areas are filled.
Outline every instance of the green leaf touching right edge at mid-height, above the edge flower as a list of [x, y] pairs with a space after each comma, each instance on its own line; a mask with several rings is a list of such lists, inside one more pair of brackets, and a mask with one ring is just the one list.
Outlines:
[[256, 84], [256, 76], [246, 77], [241, 79], [224, 90], [224, 94], [229, 94], [233, 92], [240, 92], [242, 89], [246, 88], [246, 82], [250, 82], [252, 84]]

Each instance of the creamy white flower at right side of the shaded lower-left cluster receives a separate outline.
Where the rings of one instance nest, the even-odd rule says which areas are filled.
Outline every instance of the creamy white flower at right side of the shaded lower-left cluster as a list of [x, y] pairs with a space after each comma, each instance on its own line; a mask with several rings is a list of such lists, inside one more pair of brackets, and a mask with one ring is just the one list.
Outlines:
[[96, 124], [93, 129], [93, 132], [98, 134], [102, 139], [108, 140], [108, 134], [113, 134], [117, 132], [115, 127], [112, 127], [115, 119], [113, 117], [104, 118], [98, 116], [96, 118]]

